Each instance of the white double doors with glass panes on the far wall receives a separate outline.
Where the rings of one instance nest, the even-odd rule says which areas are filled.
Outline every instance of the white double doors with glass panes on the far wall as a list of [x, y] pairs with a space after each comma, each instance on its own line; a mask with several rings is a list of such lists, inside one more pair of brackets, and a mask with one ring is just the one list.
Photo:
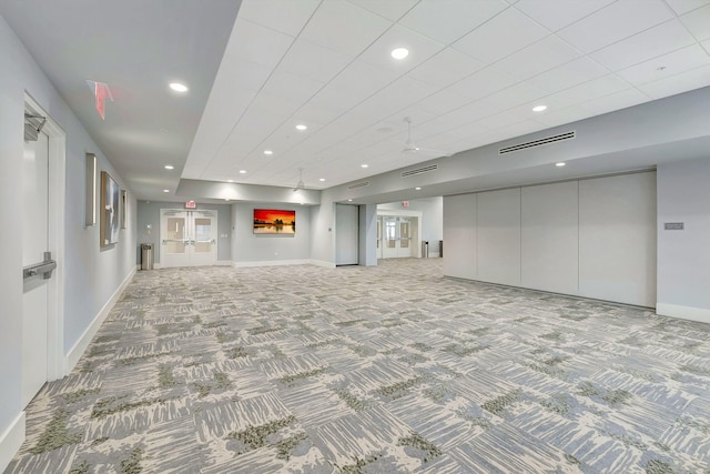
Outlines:
[[213, 265], [217, 261], [217, 212], [161, 209], [161, 266]]

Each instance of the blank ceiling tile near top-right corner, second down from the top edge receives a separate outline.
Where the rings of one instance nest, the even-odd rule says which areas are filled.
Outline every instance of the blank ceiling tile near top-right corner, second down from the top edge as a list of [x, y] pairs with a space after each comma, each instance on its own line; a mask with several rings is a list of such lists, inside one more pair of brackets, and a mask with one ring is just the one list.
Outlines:
[[694, 43], [693, 37], [673, 19], [590, 54], [611, 71], [638, 64]]

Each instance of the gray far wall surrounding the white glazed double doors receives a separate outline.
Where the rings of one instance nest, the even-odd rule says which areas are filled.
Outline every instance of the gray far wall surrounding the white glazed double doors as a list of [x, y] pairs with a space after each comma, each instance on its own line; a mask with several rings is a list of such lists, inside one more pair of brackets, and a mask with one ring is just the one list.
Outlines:
[[[141, 244], [152, 243], [154, 262], [160, 263], [160, 210], [183, 209], [182, 202], [139, 201], [138, 202], [138, 242], [135, 245], [135, 262], [141, 263]], [[197, 203], [196, 209], [212, 209], [217, 211], [217, 260], [232, 260], [232, 206], [230, 204]], [[148, 229], [148, 226], [151, 229]], [[226, 235], [224, 238], [223, 235]]]

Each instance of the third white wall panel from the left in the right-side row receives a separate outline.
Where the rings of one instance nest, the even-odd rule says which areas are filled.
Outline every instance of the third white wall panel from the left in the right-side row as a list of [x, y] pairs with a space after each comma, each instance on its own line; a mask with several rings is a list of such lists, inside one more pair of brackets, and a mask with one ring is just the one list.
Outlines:
[[579, 182], [523, 188], [521, 192], [520, 284], [577, 294]]

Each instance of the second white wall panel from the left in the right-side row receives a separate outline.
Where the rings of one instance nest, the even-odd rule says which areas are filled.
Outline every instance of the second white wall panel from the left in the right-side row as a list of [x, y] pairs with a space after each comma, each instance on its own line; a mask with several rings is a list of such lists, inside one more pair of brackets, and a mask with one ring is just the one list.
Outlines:
[[478, 194], [478, 280], [520, 285], [520, 188]]

